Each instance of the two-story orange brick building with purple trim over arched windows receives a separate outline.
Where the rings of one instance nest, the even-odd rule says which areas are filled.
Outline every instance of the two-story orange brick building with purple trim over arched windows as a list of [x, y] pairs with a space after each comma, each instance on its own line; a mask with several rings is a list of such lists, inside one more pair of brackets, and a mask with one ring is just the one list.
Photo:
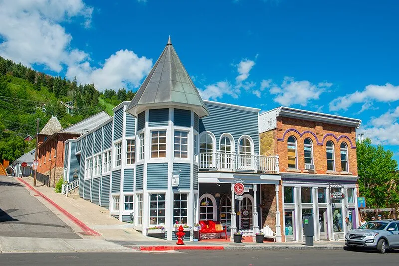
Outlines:
[[315, 240], [343, 239], [357, 226], [355, 130], [360, 123], [287, 107], [259, 116], [260, 154], [278, 154], [281, 175], [278, 188], [262, 185], [262, 216], [273, 227], [280, 220], [283, 241], [303, 240], [302, 218], [307, 215], [314, 218]]

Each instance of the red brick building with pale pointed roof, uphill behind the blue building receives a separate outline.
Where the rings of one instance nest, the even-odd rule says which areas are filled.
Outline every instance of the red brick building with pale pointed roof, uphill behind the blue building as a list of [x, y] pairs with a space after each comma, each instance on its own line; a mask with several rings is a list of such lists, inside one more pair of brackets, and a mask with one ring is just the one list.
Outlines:
[[37, 171], [49, 176], [49, 186], [55, 184], [64, 176], [64, 142], [68, 139], [76, 139], [84, 133], [100, 125], [110, 116], [100, 112], [81, 122], [63, 129], [56, 117], [51, 117], [39, 133], [38, 142], [38, 168]]

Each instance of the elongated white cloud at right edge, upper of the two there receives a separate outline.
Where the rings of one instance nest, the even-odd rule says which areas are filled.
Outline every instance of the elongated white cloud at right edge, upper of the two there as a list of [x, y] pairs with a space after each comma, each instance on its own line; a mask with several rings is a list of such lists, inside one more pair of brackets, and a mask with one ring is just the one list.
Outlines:
[[[399, 100], [399, 86], [390, 83], [385, 85], [367, 85], [363, 91], [356, 91], [345, 96], [338, 97], [330, 102], [330, 111], [347, 110], [356, 103], [363, 102], [393, 102]], [[362, 106], [362, 111], [370, 106]]]

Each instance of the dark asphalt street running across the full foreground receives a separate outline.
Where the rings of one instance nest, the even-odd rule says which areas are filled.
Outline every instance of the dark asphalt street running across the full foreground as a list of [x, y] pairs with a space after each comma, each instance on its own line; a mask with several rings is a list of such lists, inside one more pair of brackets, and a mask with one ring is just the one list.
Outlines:
[[367, 266], [398, 265], [399, 252], [377, 254], [334, 250], [189, 251], [185, 253], [36, 253], [0, 254], [7, 266]]

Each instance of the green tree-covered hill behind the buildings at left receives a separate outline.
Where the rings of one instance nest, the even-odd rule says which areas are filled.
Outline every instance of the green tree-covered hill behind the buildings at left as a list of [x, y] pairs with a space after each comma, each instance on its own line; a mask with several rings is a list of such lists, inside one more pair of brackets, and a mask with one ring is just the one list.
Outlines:
[[[66, 128], [102, 110], [112, 115], [113, 107], [133, 96], [125, 89], [100, 93], [93, 84], [53, 77], [0, 57], [0, 160], [13, 161], [34, 148], [35, 141], [23, 139], [35, 136], [37, 118], [40, 129], [51, 116]], [[61, 104], [70, 101], [72, 114]]]

